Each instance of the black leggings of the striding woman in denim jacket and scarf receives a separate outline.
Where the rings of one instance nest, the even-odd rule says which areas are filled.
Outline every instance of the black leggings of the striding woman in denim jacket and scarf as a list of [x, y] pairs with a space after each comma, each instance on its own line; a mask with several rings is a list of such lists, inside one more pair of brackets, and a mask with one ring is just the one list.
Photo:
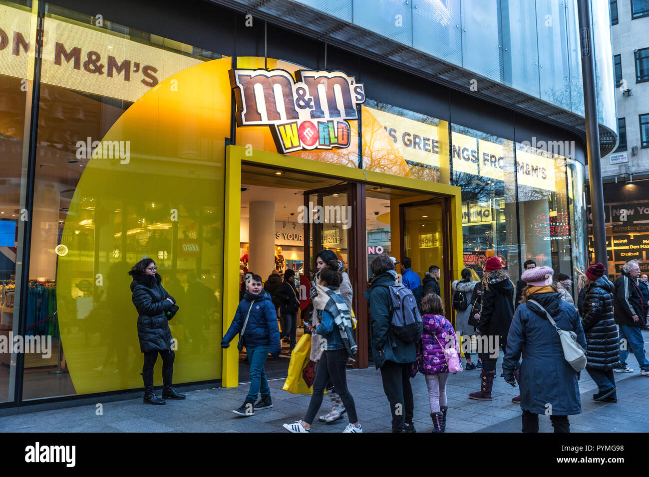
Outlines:
[[349, 390], [347, 390], [347, 375], [345, 374], [347, 372], [347, 360], [349, 360], [349, 355], [347, 355], [347, 349], [345, 348], [323, 351], [315, 369], [315, 381], [313, 382], [313, 394], [311, 395], [309, 408], [302, 421], [307, 424], [313, 423], [315, 413], [318, 412], [323, 403], [324, 386], [329, 378], [334, 382], [336, 392], [343, 401], [343, 404], [345, 404], [349, 422], [356, 423], [358, 421], [354, 398]]

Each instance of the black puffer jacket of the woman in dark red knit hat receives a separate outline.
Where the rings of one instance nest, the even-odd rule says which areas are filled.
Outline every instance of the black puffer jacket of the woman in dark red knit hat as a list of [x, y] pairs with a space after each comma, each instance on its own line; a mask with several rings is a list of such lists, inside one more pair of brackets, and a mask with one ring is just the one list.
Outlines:
[[613, 318], [613, 283], [607, 277], [600, 277], [584, 290], [579, 311], [586, 334], [586, 367], [609, 371], [620, 362], [620, 344]]

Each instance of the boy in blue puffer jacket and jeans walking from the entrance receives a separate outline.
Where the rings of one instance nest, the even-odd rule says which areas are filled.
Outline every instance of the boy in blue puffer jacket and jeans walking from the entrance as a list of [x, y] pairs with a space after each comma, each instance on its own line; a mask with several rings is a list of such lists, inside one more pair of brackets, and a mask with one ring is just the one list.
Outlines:
[[[246, 317], [248, 317], [247, 323]], [[243, 329], [244, 326], [245, 329]], [[282, 351], [275, 305], [271, 301], [270, 294], [263, 290], [262, 277], [259, 275], [250, 277], [249, 283], [246, 285], [245, 296], [237, 307], [228, 332], [223, 336], [221, 347], [229, 347], [236, 334], [241, 335], [239, 336], [239, 349], [245, 346], [248, 354], [250, 390], [241, 407], [232, 412], [248, 417], [254, 415], [256, 410], [273, 407], [271, 390], [268, 387], [263, 366], [268, 353], [276, 358]], [[262, 399], [255, 404], [260, 391]]]

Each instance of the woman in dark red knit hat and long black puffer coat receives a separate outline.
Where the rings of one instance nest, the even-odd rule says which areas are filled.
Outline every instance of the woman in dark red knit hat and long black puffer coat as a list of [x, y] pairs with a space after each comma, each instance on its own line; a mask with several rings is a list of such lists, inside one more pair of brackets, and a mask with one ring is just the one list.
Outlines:
[[613, 318], [615, 288], [604, 272], [606, 268], [600, 263], [586, 270], [585, 295], [579, 311], [586, 334], [586, 371], [599, 388], [593, 399], [617, 402], [613, 367], [620, 362], [620, 346]]

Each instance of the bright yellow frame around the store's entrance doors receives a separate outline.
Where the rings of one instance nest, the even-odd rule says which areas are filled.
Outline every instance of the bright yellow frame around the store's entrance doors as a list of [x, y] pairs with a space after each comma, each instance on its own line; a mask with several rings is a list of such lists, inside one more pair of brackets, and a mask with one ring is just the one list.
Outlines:
[[[295, 170], [306, 174], [331, 176], [349, 181], [380, 184], [386, 187], [411, 189], [424, 194], [443, 195], [450, 198], [448, 224], [452, 242], [452, 272], [459, 278], [463, 268], [462, 259], [462, 198], [461, 189], [454, 185], [440, 184], [419, 179], [392, 176], [372, 170], [354, 169], [339, 164], [324, 163], [302, 157], [284, 156], [276, 152], [251, 150], [242, 146], [227, 146], [225, 152], [225, 243], [223, 247], [223, 336], [234, 319], [239, 305], [239, 228], [241, 226], [241, 163], [271, 165], [280, 169]], [[221, 384], [231, 388], [239, 384], [239, 351], [236, 339], [223, 350], [223, 374]]]

